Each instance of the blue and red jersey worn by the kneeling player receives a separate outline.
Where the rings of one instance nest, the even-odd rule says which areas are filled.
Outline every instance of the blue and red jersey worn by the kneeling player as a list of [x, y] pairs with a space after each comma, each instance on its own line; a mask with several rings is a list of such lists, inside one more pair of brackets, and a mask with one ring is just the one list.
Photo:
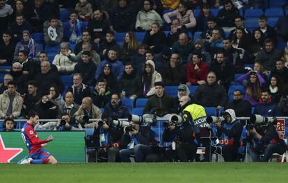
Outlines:
[[47, 140], [40, 140], [33, 126], [29, 123], [24, 124], [21, 133], [24, 143], [26, 144], [29, 150], [29, 155], [38, 152], [38, 150], [42, 148], [41, 144], [48, 142]]

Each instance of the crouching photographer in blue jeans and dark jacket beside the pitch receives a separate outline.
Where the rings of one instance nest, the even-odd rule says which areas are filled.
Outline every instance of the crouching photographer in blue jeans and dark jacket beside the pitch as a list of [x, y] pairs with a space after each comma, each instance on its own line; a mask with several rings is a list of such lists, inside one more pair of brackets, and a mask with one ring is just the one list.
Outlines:
[[135, 162], [144, 162], [146, 157], [152, 153], [152, 146], [157, 145], [156, 134], [149, 125], [140, 125], [130, 122], [124, 128], [121, 139], [122, 149], [120, 159], [122, 162], [130, 162], [130, 155], [135, 155]]

